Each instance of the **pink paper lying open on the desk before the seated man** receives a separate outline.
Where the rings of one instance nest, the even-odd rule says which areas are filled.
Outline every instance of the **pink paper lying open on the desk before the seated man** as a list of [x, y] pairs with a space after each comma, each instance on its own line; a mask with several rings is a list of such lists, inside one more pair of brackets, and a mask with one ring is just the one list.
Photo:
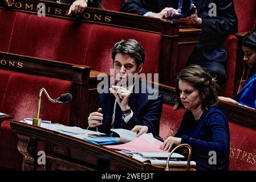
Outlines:
[[166, 152], [160, 149], [161, 144], [162, 142], [160, 140], [157, 140], [148, 134], [143, 134], [131, 142], [105, 147], [129, 152]]

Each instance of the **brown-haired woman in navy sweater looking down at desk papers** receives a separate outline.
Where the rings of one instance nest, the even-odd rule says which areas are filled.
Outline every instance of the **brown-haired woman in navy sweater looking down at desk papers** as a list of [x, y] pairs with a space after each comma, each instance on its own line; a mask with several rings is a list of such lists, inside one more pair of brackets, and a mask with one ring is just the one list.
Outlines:
[[218, 104], [216, 80], [199, 65], [190, 65], [177, 75], [178, 100], [174, 110], [185, 108], [180, 128], [168, 137], [162, 150], [173, 144], [189, 144], [198, 170], [227, 170], [229, 166], [229, 124]]

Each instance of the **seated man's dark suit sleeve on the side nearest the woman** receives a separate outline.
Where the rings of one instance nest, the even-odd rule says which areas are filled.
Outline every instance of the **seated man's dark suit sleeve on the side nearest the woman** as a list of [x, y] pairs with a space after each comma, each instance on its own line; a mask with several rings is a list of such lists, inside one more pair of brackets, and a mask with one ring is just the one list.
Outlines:
[[125, 124], [125, 129], [131, 130], [136, 125], [148, 126], [148, 133], [159, 136], [160, 118], [162, 115], [162, 103], [164, 98], [162, 94], [156, 100], [149, 100], [145, 106], [145, 112], [141, 119], [133, 113], [132, 118]]

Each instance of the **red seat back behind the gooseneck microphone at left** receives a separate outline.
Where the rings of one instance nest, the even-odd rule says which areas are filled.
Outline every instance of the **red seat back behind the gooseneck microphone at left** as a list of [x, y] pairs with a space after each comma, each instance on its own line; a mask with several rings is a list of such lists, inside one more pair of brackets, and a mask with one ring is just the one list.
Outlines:
[[[41, 88], [45, 88], [52, 98], [57, 98], [63, 93], [71, 92], [72, 87], [71, 81], [2, 69], [0, 69], [0, 77], [0, 110], [17, 120], [35, 117]], [[39, 117], [43, 120], [68, 125], [70, 102], [67, 104], [52, 103], [43, 93]]]

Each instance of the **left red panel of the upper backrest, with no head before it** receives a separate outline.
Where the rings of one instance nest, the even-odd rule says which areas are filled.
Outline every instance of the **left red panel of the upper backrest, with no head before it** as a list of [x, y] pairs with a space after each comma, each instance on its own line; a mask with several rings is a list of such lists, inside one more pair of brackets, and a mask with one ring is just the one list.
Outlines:
[[93, 24], [17, 13], [10, 53], [83, 64]]

